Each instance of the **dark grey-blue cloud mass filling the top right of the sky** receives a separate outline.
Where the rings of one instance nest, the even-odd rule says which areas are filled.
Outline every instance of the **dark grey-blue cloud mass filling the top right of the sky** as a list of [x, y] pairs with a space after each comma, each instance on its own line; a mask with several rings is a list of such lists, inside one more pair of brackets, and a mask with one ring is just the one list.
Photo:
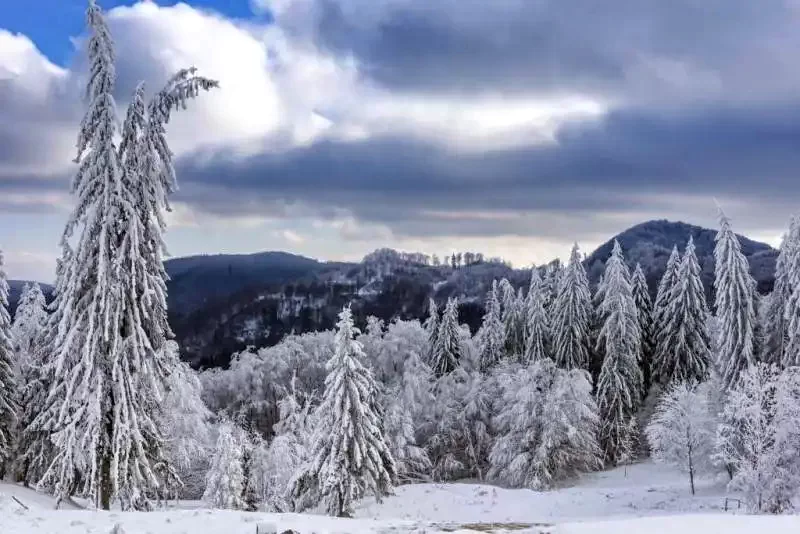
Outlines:
[[[797, 87], [783, 70], [800, 52], [791, 0], [313, 4], [312, 38], [394, 88], [646, 99], [702, 96], [700, 86], [719, 94], [737, 80], [739, 89]], [[305, 23], [301, 8], [294, 15]], [[291, 25], [292, 15], [279, 20]]]

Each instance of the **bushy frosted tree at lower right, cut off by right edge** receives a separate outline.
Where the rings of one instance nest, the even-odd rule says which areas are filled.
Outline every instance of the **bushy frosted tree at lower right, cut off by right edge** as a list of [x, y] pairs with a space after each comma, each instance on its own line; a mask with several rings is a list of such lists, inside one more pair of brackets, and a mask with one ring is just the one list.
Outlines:
[[774, 365], [747, 368], [729, 390], [717, 432], [717, 460], [733, 472], [729, 487], [754, 512], [791, 508], [800, 489], [800, 375]]

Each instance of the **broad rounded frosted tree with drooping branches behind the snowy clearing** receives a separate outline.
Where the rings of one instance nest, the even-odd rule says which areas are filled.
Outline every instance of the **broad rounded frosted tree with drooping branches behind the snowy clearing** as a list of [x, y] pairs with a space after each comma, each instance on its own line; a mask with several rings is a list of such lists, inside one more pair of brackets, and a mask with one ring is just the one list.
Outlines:
[[589, 374], [550, 359], [516, 370], [495, 417], [498, 437], [490, 477], [513, 487], [546, 490], [602, 467], [599, 416]]

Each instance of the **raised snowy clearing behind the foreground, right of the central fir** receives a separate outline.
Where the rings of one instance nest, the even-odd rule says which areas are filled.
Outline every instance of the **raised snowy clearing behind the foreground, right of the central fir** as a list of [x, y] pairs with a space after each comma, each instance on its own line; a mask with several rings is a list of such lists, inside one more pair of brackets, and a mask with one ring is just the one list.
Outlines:
[[[383, 504], [372, 500], [362, 502], [356, 515], [462, 523], [550, 523], [722, 512], [725, 484], [725, 479], [700, 480], [697, 495], [692, 496], [686, 475], [646, 462], [592, 473], [573, 487], [549, 492], [480, 484], [402, 486]], [[737, 504], [733, 502], [730, 506], [736, 508]]]

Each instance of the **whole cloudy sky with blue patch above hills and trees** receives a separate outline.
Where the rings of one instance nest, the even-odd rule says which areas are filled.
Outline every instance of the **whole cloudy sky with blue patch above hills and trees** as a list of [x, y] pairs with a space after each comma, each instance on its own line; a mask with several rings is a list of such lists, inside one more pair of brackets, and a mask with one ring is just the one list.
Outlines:
[[[649, 219], [777, 244], [800, 202], [800, 0], [99, 0], [120, 115], [175, 115], [173, 256], [389, 246], [516, 265]], [[85, 2], [0, 2], [0, 247], [53, 278]]]

